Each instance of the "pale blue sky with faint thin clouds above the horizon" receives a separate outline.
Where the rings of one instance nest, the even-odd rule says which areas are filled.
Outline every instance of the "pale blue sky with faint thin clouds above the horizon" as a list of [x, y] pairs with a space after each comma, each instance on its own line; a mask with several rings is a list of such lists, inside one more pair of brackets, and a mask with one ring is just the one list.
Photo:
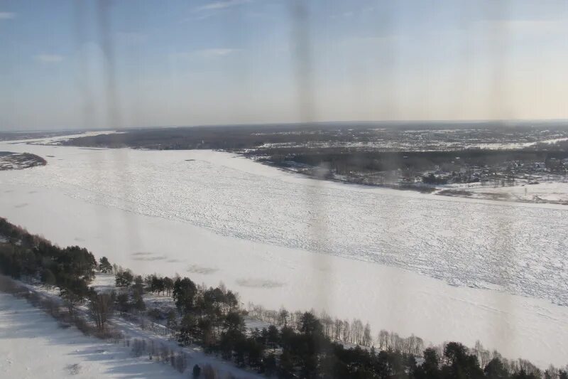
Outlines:
[[0, 131], [567, 118], [566, 0], [0, 0]]

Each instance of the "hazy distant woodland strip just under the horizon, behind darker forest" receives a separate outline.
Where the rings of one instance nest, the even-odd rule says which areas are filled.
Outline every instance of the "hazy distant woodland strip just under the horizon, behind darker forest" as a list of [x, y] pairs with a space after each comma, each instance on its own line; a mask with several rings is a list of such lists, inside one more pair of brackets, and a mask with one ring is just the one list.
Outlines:
[[[551, 123], [550, 130], [558, 130], [554, 135], [564, 135], [566, 123]], [[439, 129], [457, 129], [459, 136], [437, 133]], [[542, 125], [540, 126], [542, 127]], [[471, 132], [466, 132], [471, 129]], [[146, 129], [126, 129], [117, 134], [86, 136], [62, 142], [69, 146], [91, 147], [131, 147], [134, 149], [185, 150], [185, 149], [222, 149], [244, 151], [260, 149], [259, 153], [273, 154], [265, 148], [275, 145], [275, 149], [285, 146], [317, 147], [322, 144], [329, 147], [359, 146], [346, 148], [349, 151], [373, 149], [373, 145], [403, 142], [408, 145], [412, 136], [405, 131], [422, 131], [432, 137], [432, 141], [414, 140], [414, 149], [439, 149], [440, 142], [475, 141], [523, 141], [525, 134], [538, 129], [534, 124], [519, 123], [515, 128], [505, 127], [499, 122], [318, 122], [305, 124], [266, 124], [266, 125], [228, 125], [208, 127], [159, 127]], [[432, 134], [432, 135], [430, 135]], [[442, 139], [440, 141], [439, 139]], [[447, 141], [446, 141], [447, 140]], [[370, 146], [365, 146], [370, 144]], [[264, 146], [267, 145], [267, 146]], [[407, 150], [412, 150], [412, 144]], [[422, 146], [424, 145], [424, 146]], [[443, 145], [443, 143], [442, 143]], [[549, 145], [550, 146], [550, 145]], [[442, 146], [443, 149], [443, 146]], [[297, 151], [299, 152], [299, 151]]]

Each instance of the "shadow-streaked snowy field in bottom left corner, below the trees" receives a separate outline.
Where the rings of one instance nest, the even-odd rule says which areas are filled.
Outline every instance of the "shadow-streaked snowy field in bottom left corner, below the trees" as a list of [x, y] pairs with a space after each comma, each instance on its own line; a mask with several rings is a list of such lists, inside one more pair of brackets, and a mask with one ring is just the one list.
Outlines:
[[1, 378], [187, 378], [131, 349], [62, 329], [23, 299], [0, 293]]

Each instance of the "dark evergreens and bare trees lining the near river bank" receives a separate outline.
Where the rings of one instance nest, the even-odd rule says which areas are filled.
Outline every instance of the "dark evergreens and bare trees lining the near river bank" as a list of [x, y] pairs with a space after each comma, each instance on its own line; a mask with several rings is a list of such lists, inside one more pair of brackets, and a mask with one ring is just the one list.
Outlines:
[[[147, 316], [175, 333], [180, 346], [199, 345], [241, 368], [268, 378], [491, 378], [568, 379], [567, 370], [540, 370], [521, 359], [508, 360], [477, 344], [458, 342], [424, 347], [420, 338], [401, 338], [381, 331], [371, 338], [370, 326], [342, 321], [313, 311], [290, 313], [249, 304], [236, 293], [204, 287], [187, 277], [142, 277], [99, 262], [78, 246], [61, 248], [0, 218], [0, 270], [28, 282], [58, 287], [69, 314], [89, 304], [89, 315], [104, 333], [113, 316]], [[96, 272], [114, 274], [116, 291], [89, 287]], [[171, 297], [173, 309], [147, 309], [143, 296]], [[263, 329], [246, 327], [245, 316], [267, 321]], [[342, 341], [342, 342], [340, 342]], [[199, 370], [193, 371], [199, 375]]]

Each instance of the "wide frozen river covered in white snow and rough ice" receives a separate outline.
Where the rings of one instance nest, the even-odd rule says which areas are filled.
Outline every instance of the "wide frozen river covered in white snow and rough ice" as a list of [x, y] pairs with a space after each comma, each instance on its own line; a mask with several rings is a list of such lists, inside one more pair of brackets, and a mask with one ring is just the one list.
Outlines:
[[48, 165], [0, 173], [0, 215], [61, 245], [223, 280], [244, 302], [567, 363], [566, 206], [315, 181], [214, 151], [9, 146]]

